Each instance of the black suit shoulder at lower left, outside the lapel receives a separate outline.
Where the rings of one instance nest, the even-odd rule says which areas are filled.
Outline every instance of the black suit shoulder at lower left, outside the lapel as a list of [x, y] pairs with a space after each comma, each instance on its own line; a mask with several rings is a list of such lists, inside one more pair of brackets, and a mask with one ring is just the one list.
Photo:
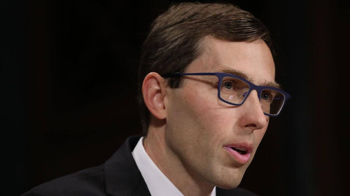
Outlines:
[[43, 183], [22, 196], [106, 195], [103, 165]]

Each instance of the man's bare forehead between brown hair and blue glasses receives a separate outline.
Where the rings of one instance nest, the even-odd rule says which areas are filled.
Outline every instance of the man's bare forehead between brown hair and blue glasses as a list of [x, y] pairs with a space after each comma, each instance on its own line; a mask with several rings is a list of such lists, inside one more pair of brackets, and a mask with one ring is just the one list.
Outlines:
[[275, 66], [271, 51], [261, 39], [254, 42], [229, 42], [206, 37], [201, 45], [202, 54], [186, 72], [222, 72], [234, 69], [246, 74], [260, 85], [274, 82]]

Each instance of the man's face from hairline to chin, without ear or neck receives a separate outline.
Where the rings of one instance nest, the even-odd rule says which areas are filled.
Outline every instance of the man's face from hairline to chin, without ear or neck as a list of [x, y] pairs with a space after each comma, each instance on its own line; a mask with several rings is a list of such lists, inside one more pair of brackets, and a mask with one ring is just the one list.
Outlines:
[[[207, 37], [202, 48], [202, 55], [186, 73], [232, 69], [246, 73], [257, 85], [274, 82], [273, 58], [262, 40], [245, 43]], [[218, 99], [216, 76], [183, 78], [182, 88], [167, 89], [166, 145], [194, 178], [221, 188], [235, 188], [268, 125], [257, 91], [253, 90], [243, 105], [233, 106]], [[228, 146], [251, 146], [250, 155], [245, 155], [248, 160], [233, 155]]]

